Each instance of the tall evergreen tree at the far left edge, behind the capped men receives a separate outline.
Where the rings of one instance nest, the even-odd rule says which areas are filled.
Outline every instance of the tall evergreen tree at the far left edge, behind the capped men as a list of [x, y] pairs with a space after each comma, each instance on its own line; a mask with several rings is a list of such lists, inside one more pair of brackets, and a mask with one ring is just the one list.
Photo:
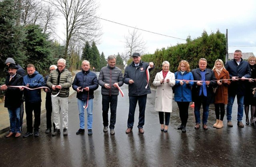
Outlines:
[[14, 58], [15, 62], [24, 65], [24, 48], [22, 41], [25, 38], [23, 28], [16, 26], [20, 10], [14, 0], [0, 1], [0, 69], [3, 69], [6, 58]]

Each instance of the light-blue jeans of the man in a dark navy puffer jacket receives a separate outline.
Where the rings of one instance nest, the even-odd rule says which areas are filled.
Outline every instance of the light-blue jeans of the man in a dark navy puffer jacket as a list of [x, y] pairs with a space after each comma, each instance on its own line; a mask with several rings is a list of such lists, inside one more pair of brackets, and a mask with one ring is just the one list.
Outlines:
[[[77, 99], [78, 110], [79, 110], [79, 119], [80, 119], [80, 129], [84, 129], [84, 107], [87, 104], [87, 100]], [[93, 108], [93, 99], [88, 100], [87, 107], [87, 129], [92, 129], [92, 108]]]

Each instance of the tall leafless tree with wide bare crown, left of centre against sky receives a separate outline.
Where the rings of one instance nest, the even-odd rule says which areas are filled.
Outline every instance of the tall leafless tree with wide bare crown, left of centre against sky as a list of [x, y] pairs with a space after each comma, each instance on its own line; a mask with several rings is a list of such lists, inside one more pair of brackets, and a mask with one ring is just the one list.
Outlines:
[[96, 15], [98, 4], [96, 0], [51, 0], [52, 4], [66, 19], [66, 48], [68, 53], [69, 42], [94, 41], [99, 42], [102, 35], [101, 27]]

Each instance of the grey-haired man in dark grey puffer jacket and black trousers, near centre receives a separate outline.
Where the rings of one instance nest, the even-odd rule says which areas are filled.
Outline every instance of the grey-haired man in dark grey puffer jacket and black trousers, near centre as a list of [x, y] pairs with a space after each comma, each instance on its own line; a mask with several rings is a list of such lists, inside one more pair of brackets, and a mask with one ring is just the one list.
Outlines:
[[110, 105], [110, 134], [114, 135], [116, 124], [116, 107], [119, 90], [118, 86], [122, 86], [123, 74], [120, 68], [116, 67], [116, 56], [108, 56], [108, 65], [100, 70], [98, 84], [101, 86], [102, 94], [102, 117], [103, 117], [103, 131], [108, 131], [108, 109]]

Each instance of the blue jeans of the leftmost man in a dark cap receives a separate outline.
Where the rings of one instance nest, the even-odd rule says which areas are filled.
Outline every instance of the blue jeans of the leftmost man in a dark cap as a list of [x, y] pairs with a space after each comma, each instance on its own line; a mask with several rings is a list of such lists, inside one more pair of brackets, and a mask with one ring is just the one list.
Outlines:
[[9, 117], [10, 117], [10, 129], [12, 133], [20, 133], [20, 107], [18, 108], [8, 108]]

